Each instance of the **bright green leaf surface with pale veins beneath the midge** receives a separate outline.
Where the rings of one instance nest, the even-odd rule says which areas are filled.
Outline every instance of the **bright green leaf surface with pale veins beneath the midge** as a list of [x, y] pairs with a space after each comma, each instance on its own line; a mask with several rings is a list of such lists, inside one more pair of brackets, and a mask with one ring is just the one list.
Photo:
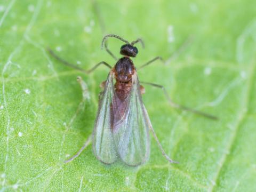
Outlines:
[[[255, 191], [255, 7], [252, 0], [2, 0], [0, 191]], [[102, 164], [91, 144], [63, 164], [92, 133], [108, 69], [86, 75], [45, 49], [84, 69], [102, 60], [114, 66], [100, 49], [107, 33], [143, 38], [137, 67], [158, 55], [167, 60], [138, 71], [141, 81], [161, 84], [173, 101], [219, 117], [174, 109], [162, 90], [145, 85], [155, 132], [180, 164], [168, 163], [153, 137], [150, 160], [139, 167]], [[117, 55], [122, 43], [108, 42]], [[90, 100], [82, 98], [78, 75]]]

